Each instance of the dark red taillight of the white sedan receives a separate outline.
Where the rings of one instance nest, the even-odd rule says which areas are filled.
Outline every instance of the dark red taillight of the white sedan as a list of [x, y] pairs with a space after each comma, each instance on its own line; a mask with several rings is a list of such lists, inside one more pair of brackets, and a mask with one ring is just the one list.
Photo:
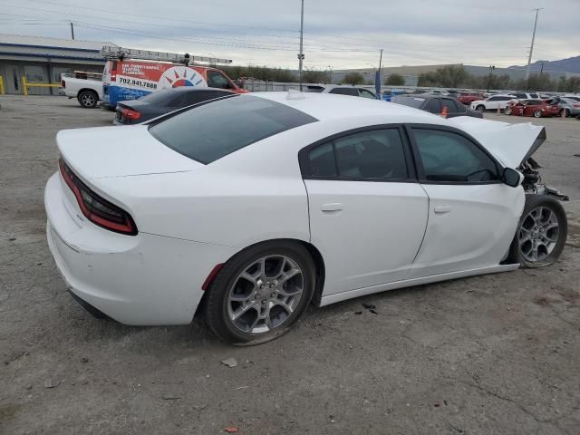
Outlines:
[[135, 236], [137, 227], [125, 210], [94, 193], [76, 176], [63, 159], [58, 160], [66, 185], [73, 190], [82, 214], [93, 224], [117, 233]]

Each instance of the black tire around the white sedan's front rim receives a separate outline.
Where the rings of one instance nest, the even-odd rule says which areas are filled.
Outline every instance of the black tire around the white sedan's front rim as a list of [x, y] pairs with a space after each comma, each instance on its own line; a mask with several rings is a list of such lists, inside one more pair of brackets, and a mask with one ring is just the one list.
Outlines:
[[[558, 232], [556, 238], [556, 245], [552, 251], [544, 258], [537, 261], [530, 261], [523, 253], [522, 245], [520, 245], [520, 235], [523, 236], [522, 231], [527, 231], [524, 227], [528, 227], [529, 221], [527, 217], [536, 208], [549, 208], [557, 218]], [[547, 195], [526, 195], [526, 206], [522, 212], [522, 216], [517, 224], [517, 231], [512, 240], [511, 247], [509, 247], [508, 259], [511, 263], [519, 263], [522, 267], [543, 267], [550, 266], [556, 262], [562, 250], [565, 247], [565, 239], [568, 234], [568, 222], [565, 216], [565, 210], [556, 198]]]

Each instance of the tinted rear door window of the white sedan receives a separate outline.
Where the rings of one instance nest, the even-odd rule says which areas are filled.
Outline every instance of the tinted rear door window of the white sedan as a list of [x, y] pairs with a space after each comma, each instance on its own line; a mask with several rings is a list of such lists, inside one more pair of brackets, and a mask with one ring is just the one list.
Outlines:
[[408, 179], [398, 129], [362, 131], [331, 140], [308, 151], [313, 177], [341, 179]]

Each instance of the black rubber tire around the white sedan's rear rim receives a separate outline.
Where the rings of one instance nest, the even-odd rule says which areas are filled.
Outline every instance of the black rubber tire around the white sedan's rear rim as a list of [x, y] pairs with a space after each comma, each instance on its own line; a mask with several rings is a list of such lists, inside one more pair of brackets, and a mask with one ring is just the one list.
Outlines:
[[[238, 275], [264, 256], [287, 256], [292, 259], [303, 272], [304, 290], [295, 310], [288, 315], [282, 324], [266, 333], [244, 333], [229, 318], [227, 312], [228, 296], [230, 289], [236, 284]], [[279, 240], [248, 247], [230, 258], [209, 286], [204, 307], [206, 323], [218, 335], [218, 338], [226, 343], [253, 345], [269, 342], [286, 333], [304, 312], [314, 295], [314, 285], [314, 261], [308, 251], [299, 243]]]

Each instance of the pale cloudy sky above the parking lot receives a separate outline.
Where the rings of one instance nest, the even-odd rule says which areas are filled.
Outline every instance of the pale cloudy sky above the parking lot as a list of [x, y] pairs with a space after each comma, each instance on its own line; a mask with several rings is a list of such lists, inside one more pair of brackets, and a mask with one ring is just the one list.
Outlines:
[[[0, 0], [0, 34], [297, 69], [301, 0]], [[304, 0], [304, 67], [525, 65], [580, 54], [580, 0]]]

